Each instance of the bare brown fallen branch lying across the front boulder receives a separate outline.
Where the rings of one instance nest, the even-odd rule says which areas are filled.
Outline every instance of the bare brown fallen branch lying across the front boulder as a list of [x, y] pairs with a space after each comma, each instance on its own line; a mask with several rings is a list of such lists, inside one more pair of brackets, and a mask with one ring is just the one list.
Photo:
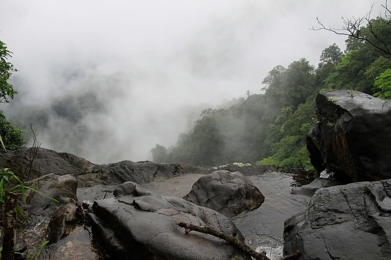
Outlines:
[[[178, 224], [178, 226], [185, 228], [186, 234], [191, 231], [197, 231], [200, 233], [209, 234], [209, 235], [215, 236], [219, 239], [230, 242], [231, 244], [235, 245], [236, 247], [241, 249], [243, 252], [249, 254], [250, 256], [252, 256], [253, 258], [255, 258], [257, 260], [270, 260], [268, 257], [266, 257], [265, 252], [259, 253], [259, 252], [255, 251], [250, 246], [246, 245], [244, 242], [236, 239], [235, 236], [229, 236], [229, 235], [224, 234], [223, 232], [218, 231], [218, 230], [211, 228], [211, 227], [196, 226], [196, 225], [193, 225], [190, 223], [185, 223], [185, 222], [179, 222], [177, 224]], [[300, 255], [300, 251], [298, 250], [298, 251], [296, 251], [295, 254], [283, 257], [281, 260], [295, 260], [299, 257], [299, 255]]]

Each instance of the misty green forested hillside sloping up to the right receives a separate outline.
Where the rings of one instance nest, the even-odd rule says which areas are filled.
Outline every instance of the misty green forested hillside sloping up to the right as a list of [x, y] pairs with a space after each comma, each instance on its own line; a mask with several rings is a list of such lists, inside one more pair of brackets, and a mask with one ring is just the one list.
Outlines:
[[305, 58], [287, 68], [277, 65], [262, 81], [264, 94], [203, 110], [174, 147], [156, 144], [153, 160], [202, 166], [259, 161], [287, 170], [311, 169], [305, 136], [315, 118], [318, 92], [352, 89], [391, 98], [391, 23], [381, 17], [368, 22], [348, 37], [344, 52], [332, 44], [317, 66]]

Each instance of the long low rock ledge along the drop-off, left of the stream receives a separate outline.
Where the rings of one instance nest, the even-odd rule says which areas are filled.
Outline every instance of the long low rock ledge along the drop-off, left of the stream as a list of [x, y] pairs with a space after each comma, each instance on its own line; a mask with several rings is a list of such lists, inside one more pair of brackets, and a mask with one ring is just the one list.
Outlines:
[[[125, 181], [148, 183], [158, 178], [172, 178], [200, 171], [199, 168], [187, 163], [159, 164], [152, 161], [124, 160], [99, 165], [72, 154], [44, 148], [38, 149], [36, 157], [33, 155], [34, 150], [31, 148], [9, 151], [0, 156], [0, 166], [11, 168], [19, 176], [23, 176], [23, 180], [35, 179], [50, 173], [70, 174], [78, 180], [79, 187], [119, 184]], [[30, 158], [34, 158], [31, 164]]]

